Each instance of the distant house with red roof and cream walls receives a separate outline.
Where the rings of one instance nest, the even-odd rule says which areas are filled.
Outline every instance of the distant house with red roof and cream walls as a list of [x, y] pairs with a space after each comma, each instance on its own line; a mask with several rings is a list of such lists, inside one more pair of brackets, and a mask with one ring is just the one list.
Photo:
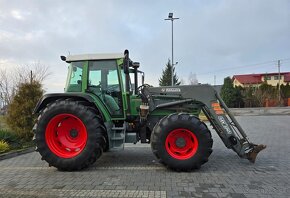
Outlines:
[[[235, 87], [258, 87], [263, 82], [272, 86], [277, 86], [279, 83], [279, 73], [264, 73], [264, 74], [244, 74], [234, 75], [233, 84]], [[286, 85], [290, 83], [290, 72], [280, 73], [280, 84]]]

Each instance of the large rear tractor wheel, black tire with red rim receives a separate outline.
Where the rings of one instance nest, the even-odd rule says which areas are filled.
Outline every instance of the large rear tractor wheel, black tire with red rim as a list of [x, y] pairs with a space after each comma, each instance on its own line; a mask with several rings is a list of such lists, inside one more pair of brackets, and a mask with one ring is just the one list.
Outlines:
[[38, 117], [37, 151], [59, 170], [81, 170], [93, 164], [106, 147], [100, 117], [83, 102], [57, 100]]

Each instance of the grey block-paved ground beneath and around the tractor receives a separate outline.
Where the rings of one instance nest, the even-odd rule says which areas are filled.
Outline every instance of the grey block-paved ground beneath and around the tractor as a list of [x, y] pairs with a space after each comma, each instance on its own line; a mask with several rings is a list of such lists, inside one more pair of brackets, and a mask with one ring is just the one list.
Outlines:
[[178, 173], [155, 161], [148, 145], [105, 153], [91, 168], [60, 172], [29, 153], [0, 161], [0, 197], [289, 197], [290, 116], [237, 117], [250, 140], [267, 144], [256, 164], [214, 136], [200, 170]]

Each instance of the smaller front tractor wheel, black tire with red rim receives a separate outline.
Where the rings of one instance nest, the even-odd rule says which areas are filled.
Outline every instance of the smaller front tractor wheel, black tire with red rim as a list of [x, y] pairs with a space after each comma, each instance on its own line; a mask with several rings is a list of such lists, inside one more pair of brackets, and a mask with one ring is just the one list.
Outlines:
[[177, 171], [200, 168], [212, 153], [213, 140], [207, 126], [197, 117], [171, 114], [153, 128], [151, 149], [165, 166]]

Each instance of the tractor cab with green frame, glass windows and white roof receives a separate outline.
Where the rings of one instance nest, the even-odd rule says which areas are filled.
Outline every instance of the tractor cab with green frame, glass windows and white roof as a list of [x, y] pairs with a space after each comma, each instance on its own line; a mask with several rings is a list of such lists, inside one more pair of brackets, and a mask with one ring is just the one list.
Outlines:
[[130, 114], [128, 96], [137, 94], [138, 75], [144, 81], [144, 73], [138, 70], [139, 63], [132, 62], [128, 53], [62, 56], [62, 60], [69, 63], [65, 92], [94, 95], [110, 117], [125, 119], [125, 115]]

